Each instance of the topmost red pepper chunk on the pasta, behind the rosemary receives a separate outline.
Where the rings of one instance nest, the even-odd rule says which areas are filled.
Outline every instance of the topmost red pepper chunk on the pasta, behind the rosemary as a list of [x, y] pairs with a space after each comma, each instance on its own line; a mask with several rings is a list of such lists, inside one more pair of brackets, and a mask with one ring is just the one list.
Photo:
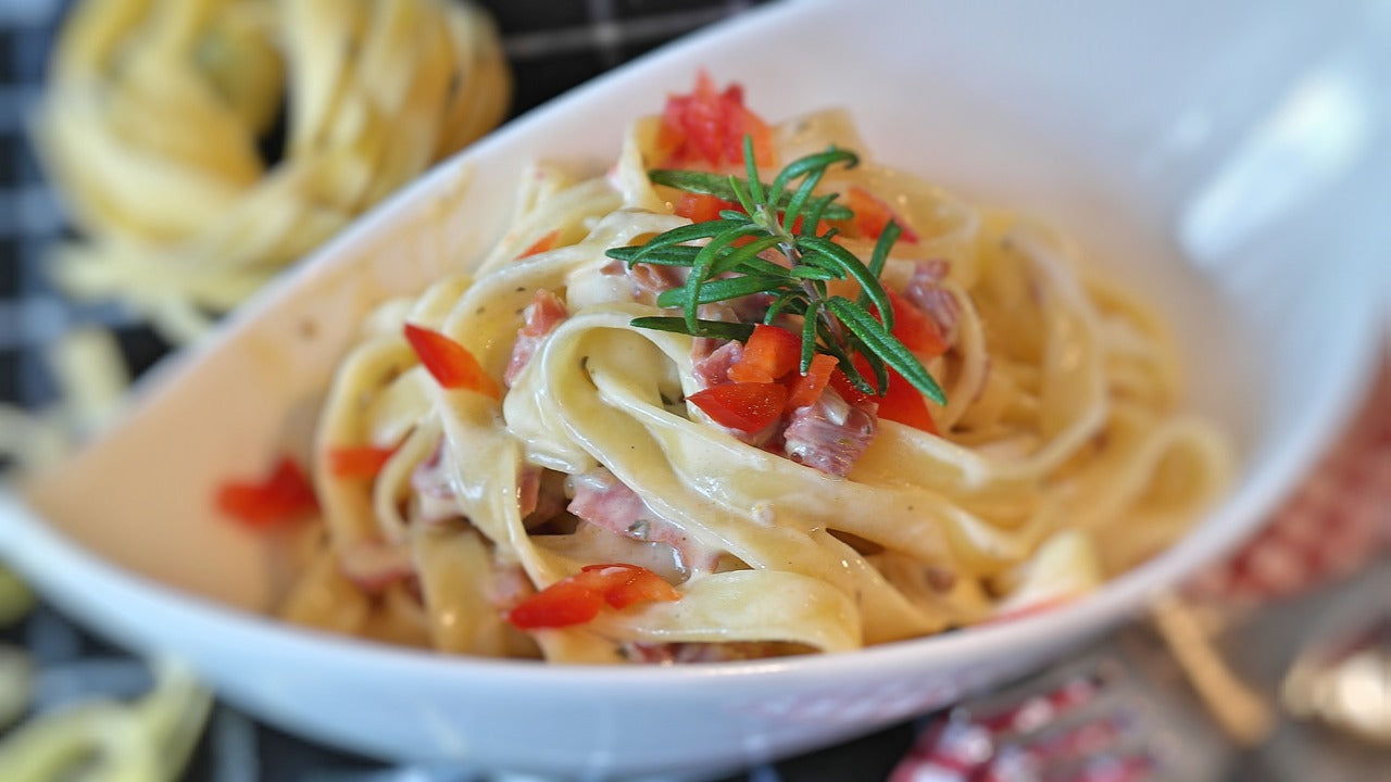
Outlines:
[[746, 135], [754, 142], [754, 161], [772, 166], [772, 131], [744, 107], [744, 89], [732, 83], [719, 92], [709, 74], [700, 71], [690, 95], [668, 96], [657, 143], [666, 153], [664, 166], [721, 168], [743, 163]]

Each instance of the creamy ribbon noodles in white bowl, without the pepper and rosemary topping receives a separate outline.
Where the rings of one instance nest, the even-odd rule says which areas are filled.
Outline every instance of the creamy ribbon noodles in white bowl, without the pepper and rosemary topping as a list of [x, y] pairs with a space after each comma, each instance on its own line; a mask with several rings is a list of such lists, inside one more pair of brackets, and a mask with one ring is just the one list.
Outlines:
[[[1225, 441], [1174, 412], [1181, 373], [1153, 314], [1081, 277], [1039, 225], [871, 161], [821, 188], [879, 193], [919, 234], [882, 278], [950, 305], [936, 313], [950, 348], [926, 365], [947, 391], [932, 405], [940, 434], [879, 420], [842, 476], [712, 423], [687, 401], [709, 345], [634, 327], [664, 310], [651, 280], [605, 255], [687, 223], [645, 174], [658, 135], [636, 122], [604, 177], [529, 171], [473, 276], [367, 321], [317, 452], [394, 451], [370, 480], [316, 466], [327, 540], [288, 616], [569, 662], [836, 653], [1074, 597], [1168, 544], [1220, 491]], [[782, 159], [857, 143], [839, 113], [775, 138]], [[563, 309], [544, 331], [538, 302]], [[441, 388], [403, 321], [505, 377], [501, 402]], [[630, 515], [606, 515], [619, 506]], [[380, 565], [366, 575], [352, 566], [363, 550]], [[659, 573], [679, 598], [531, 632], [505, 621], [612, 562]]]

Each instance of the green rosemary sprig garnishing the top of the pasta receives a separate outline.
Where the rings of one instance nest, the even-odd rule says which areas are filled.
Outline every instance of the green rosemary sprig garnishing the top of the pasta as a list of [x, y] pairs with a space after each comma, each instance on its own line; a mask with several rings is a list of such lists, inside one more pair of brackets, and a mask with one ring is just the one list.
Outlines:
[[[889, 250], [901, 230], [893, 221], [875, 242], [869, 263], [835, 241], [836, 230], [817, 234], [822, 220], [854, 217], [837, 193], [815, 195], [817, 185], [832, 166], [847, 168], [860, 159], [835, 146], [789, 163], [772, 182], [764, 182], [754, 164], [753, 139], [744, 136], [746, 178], [702, 171], [652, 170], [652, 182], [691, 193], [736, 202], [740, 210], [725, 210], [718, 220], [693, 223], [659, 234], [647, 244], [613, 248], [608, 256], [627, 263], [684, 266], [686, 285], [662, 292], [658, 306], [682, 310], [680, 317], [637, 317], [633, 326], [677, 331], [696, 337], [747, 340], [753, 324], [721, 323], [698, 317], [700, 305], [764, 294], [771, 296], [764, 323], [779, 316], [803, 317], [801, 372], [815, 353], [837, 359], [840, 370], [861, 392], [882, 395], [889, 388], [887, 367], [893, 367], [914, 388], [939, 405], [946, 404], [942, 387], [922, 363], [893, 335], [893, 308], [879, 282]], [[740, 241], [744, 241], [740, 244]], [[705, 241], [704, 245], [690, 242]], [[761, 253], [776, 249], [787, 264], [773, 263]], [[826, 282], [853, 280], [860, 296], [850, 301], [830, 295]], [[869, 308], [881, 314], [869, 314]], [[853, 356], [864, 356], [874, 385], [855, 367]]]

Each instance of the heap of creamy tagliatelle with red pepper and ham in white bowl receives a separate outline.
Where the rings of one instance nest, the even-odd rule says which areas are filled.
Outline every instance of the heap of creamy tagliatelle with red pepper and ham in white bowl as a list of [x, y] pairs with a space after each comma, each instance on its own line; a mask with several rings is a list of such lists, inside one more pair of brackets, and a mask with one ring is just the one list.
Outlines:
[[[776, 241], [729, 244], [725, 259], [751, 249], [714, 273], [655, 250], [629, 263], [622, 248], [740, 217], [654, 179], [747, 179], [747, 156], [768, 182], [828, 149], [861, 161], [821, 171], [805, 202], [821, 220], [789, 206], [807, 224], [776, 231], [828, 237], [886, 299]], [[739, 88], [702, 77], [630, 127], [606, 174], [524, 174], [476, 271], [383, 306], [344, 359], [312, 466], [323, 544], [284, 615], [563, 662], [833, 653], [1068, 600], [1173, 541], [1228, 455], [1174, 410], [1163, 324], [1081, 277], [1053, 232], [862, 153], [842, 113], [766, 127]], [[707, 239], [672, 246], [690, 259], [679, 248]], [[727, 292], [778, 278], [766, 264], [803, 270], [787, 301], [701, 298], [690, 313], [715, 335], [682, 333], [690, 313], [659, 306], [691, 274]], [[946, 404], [904, 380], [901, 356], [869, 355], [874, 330], [842, 305], [805, 305], [837, 296], [890, 303], [894, 344]]]

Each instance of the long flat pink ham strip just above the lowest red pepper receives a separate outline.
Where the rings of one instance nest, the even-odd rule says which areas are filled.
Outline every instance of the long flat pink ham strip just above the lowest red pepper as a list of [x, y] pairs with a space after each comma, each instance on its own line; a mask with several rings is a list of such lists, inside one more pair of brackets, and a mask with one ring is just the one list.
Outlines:
[[679, 526], [652, 511], [636, 491], [609, 470], [600, 468], [572, 476], [574, 497], [569, 511], [586, 522], [612, 533], [676, 550], [682, 565], [691, 572], [711, 570], [719, 554], [704, 550]]

